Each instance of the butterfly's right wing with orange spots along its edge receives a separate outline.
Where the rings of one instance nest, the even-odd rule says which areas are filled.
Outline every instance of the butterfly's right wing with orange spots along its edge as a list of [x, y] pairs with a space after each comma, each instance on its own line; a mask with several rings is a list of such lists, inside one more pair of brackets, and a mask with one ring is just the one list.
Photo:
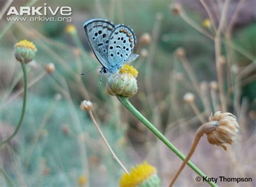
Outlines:
[[119, 69], [124, 62], [135, 60], [138, 55], [132, 54], [132, 52], [136, 42], [136, 37], [131, 28], [125, 25], [117, 25], [110, 36], [107, 49], [107, 59], [110, 67]]

